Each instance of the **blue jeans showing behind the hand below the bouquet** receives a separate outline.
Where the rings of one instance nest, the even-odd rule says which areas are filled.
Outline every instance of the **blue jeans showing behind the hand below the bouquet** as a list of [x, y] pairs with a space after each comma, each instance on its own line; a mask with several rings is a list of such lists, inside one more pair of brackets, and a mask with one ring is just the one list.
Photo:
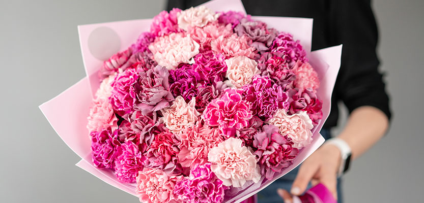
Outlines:
[[[330, 138], [330, 131], [327, 129], [321, 130], [322, 136], [327, 140]], [[290, 191], [292, 187], [292, 183], [296, 178], [297, 172], [299, 170], [299, 166], [294, 168], [291, 172], [281, 177], [280, 179], [274, 181], [271, 185], [264, 188], [258, 193], [258, 203], [282, 203], [284, 202], [281, 197], [277, 194], [277, 189], [282, 188], [287, 191]], [[308, 185], [308, 188], [311, 185]], [[337, 198], [338, 202], [342, 201], [342, 180], [337, 179]]]

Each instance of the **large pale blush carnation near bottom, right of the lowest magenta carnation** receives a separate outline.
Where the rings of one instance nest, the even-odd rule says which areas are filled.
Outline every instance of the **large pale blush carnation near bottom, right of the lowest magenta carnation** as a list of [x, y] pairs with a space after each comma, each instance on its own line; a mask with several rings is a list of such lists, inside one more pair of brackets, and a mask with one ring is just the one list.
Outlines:
[[225, 186], [242, 187], [247, 181], [261, 179], [258, 160], [242, 144], [240, 139], [229, 138], [209, 151], [211, 170]]

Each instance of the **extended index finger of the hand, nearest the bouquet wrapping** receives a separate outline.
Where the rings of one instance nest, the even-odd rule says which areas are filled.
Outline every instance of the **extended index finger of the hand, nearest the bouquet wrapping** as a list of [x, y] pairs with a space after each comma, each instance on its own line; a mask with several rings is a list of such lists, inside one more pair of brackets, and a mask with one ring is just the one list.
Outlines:
[[[310, 158], [312, 157], [308, 159]], [[293, 182], [290, 192], [294, 195], [301, 195], [305, 191], [310, 179], [312, 179], [318, 171], [319, 164], [308, 161], [308, 159], [300, 166], [296, 179]]]

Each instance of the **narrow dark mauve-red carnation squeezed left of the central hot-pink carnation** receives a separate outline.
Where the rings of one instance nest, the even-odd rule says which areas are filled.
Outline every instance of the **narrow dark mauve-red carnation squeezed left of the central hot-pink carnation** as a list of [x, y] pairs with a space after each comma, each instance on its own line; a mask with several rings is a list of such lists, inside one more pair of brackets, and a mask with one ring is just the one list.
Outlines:
[[197, 88], [196, 93], [196, 110], [203, 113], [206, 106], [221, 94], [227, 88], [227, 85], [222, 81], [216, 82], [214, 85], [205, 85]]

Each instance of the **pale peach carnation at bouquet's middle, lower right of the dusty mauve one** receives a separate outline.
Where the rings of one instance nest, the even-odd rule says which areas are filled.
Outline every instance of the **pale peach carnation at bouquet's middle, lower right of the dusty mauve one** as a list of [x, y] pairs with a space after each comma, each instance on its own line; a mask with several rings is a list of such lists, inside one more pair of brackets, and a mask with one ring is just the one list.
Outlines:
[[161, 110], [163, 114], [161, 121], [174, 134], [178, 134], [184, 128], [192, 128], [200, 116], [194, 106], [194, 97], [187, 104], [183, 97], [178, 96], [171, 107]]

